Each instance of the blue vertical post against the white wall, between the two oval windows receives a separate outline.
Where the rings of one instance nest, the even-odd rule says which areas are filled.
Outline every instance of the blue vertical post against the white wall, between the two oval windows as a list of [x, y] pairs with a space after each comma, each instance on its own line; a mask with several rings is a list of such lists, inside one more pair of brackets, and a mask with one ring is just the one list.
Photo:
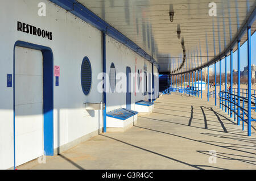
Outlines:
[[[106, 34], [102, 32], [102, 58], [103, 58], [103, 73], [106, 73]], [[104, 75], [105, 76], [105, 75]], [[104, 91], [103, 91], [103, 103], [105, 103], [105, 109], [103, 110], [103, 132], [106, 133], [106, 77], [104, 78]]]

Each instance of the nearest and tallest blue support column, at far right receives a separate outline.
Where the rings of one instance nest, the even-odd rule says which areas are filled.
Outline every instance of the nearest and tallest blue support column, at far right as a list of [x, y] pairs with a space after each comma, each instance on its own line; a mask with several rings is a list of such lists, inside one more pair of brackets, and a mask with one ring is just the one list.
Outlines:
[[248, 58], [248, 105], [247, 105], [247, 136], [251, 136], [251, 27], [247, 27], [247, 58]]

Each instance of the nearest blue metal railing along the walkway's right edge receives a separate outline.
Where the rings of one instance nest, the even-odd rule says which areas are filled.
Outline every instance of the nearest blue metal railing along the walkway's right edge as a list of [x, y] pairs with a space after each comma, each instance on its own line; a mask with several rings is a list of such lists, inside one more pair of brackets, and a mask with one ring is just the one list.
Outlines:
[[[247, 111], [247, 105], [248, 99], [244, 96], [238, 96], [236, 94], [231, 94], [230, 92], [220, 91], [220, 106], [222, 106], [222, 110], [226, 107], [228, 108], [228, 111], [230, 111], [230, 115], [232, 113], [235, 113], [236, 116], [234, 116], [234, 120], [236, 121], [237, 118], [237, 124], [240, 125], [240, 120], [242, 121], [242, 130], [245, 129], [245, 123], [248, 124], [248, 111]], [[255, 99], [255, 96], [252, 96]], [[254, 105], [254, 107], [251, 107], [251, 110], [256, 110], [255, 102], [251, 101], [251, 105]], [[229, 113], [229, 112], [228, 112]], [[251, 121], [256, 121], [256, 119], [253, 119], [251, 117]], [[250, 133], [249, 133], [250, 134]]]

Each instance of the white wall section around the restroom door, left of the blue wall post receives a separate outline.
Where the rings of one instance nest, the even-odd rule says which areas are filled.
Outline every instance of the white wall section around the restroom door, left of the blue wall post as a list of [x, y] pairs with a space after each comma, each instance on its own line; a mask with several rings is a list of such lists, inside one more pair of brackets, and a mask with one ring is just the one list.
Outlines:
[[[46, 16], [38, 16], [38, 3], [45, 2]], [[13, 87], [6, 87], [6, 74], [13, 74], [14, 44], [17, 40], [50, 47], [53, 64], [60, 66], [59, 87], [54, 82], [54, 148], [102, 127], [102, 112], [83, 108], [85, 102], [100, 102], [97, 75], [102, 71], [101, 32], [46, 0], [5, 1], [0, 7], [0, 169], [13, 166]], [[53, 40], [17, 31], [17, 21], [51, 31]], [[81, 89], [82, 59], [92, 64], [92, 89]], [[55, 80], [55, 79], [54, 79]], [[100, 126], [99, 126], [100, 121]], [[59, 134], [59, 135], [58, 135]]]

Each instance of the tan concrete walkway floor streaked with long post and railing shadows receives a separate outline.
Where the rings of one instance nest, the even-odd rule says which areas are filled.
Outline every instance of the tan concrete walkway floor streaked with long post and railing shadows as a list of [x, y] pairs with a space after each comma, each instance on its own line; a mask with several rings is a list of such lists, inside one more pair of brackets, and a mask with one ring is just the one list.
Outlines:
[[[163, 95], [126, 132], [102, 133], [46, 164], [17, 169], [256, 169], [255, 129], [247, 137], [213, 101]], [[209, 150], [217, 151], [217, 163], [209, 163]]]

